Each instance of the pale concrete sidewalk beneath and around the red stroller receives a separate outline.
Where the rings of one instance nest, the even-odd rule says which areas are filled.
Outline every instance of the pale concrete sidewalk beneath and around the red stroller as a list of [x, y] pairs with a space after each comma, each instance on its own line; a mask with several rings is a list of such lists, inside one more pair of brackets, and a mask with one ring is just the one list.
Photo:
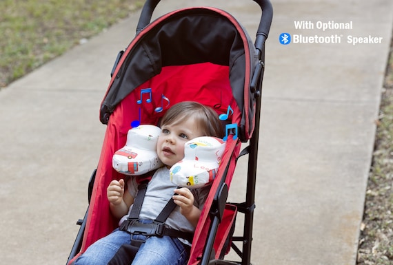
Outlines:
[[[154, 16], [184, 7], [181, 3], [162, 1]], [[254, 36], [256, 3], [219, 0], [214, 6], [234, 14]], [[274, 0], [273, 8], [252, 263], [355, 264], [393, 2]], [[132, 14], [1, 89], [3, 264], [66, 264], [103, 142], [99, 106], [112, 63], [134, 36], [138, 18]], [[352, 28], [334, 28], [336, 23]], [[325, 24], [333, 28], [320, 28]], [[281, 33], [291, 34], [292, 43], [281, 45]], [[319, 42], [334, 35], [341, 42], [293, 43], [300, 34]], [[347, 36], [383, 39], [353, 45]], [[245, 194], [246, 167], [240, 160], [230, 200]]]

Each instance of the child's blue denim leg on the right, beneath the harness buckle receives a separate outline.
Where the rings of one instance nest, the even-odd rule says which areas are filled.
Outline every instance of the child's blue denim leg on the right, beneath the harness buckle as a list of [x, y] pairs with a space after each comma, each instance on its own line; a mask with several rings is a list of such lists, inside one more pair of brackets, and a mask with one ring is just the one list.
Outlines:
[[183, 244], [169, 236], [149, 237], [141, 245], [132, 264], [183, 265], [188, 261], [188, 253]]

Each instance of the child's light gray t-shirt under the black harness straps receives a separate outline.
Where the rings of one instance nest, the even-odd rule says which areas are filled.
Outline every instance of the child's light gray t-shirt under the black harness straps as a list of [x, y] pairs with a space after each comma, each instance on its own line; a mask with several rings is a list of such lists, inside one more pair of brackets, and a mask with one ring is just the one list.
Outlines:
[[[132, 176], [127, 182], [128, 192], [132, 195], [133, 198], [136, 198], [138, 192], [137, 178], [137, 176]], [[161, 167], [158, 169], [148, 184], [148, 189], [145, 193], [145, 198], [143, 200], [139, 218], [146, 220], [154, 220], [157, 218], [167, 202], [170, 200], [170, 198], [172, 198], [174, 189], [176, 188], [177, 185], [170, 181], [169, 169], [166, 167]], [[208, 197], [210, 186], [192, 189], [191, 191], [194, 195], [194, 205], [202, 210], [205, 200]], [[131, 209], [132, 206], [130, 207], [130, 211]], [[128, 211], [128, 214], [130, 214], [130, 211]], [[128, 215], [125, 215], [123, 218], [121, 218], [119, 224], [121, 224], [121, 222], [123, 222], [127, 217]], [[177, 229], [184, 232], [193, 233], [195, 230], [194, 226], [192, 226], [192, 224], [188, 222], [184, 215], [180, 213], [179, 206], [177, 206], [172, 211], [168, 219], [165, 221], [165, 224], [172, 229]]]

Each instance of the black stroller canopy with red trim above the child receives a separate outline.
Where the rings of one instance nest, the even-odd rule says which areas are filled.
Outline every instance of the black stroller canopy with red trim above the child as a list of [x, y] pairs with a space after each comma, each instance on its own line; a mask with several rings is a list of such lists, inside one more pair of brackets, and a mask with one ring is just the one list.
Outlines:
[[232, 93], [243, 109], [245, 94], [249, 94], [245, 90], [250, 90], [258, 62], [256, 49], [242, 26], [216, 8], [177, 10], [157, 19], [137, 35], [123, 57], [101, 106], [103, 123], [104, 115], [108, 117], [133, 89], [159, 74], [162, 67], [172, 65], [210, 62], [228, 66]]

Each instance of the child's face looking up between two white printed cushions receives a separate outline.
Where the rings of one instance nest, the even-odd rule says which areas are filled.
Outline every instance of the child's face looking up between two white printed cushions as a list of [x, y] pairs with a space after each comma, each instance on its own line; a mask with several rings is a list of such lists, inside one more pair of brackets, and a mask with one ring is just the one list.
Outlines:
[[189, 140], [203, 136], [194, 119], [190, 118], [177, 125], [163, 125], [157, 141], [157, 154], [167, 167], [172, 167], [184, 158], [184, 145]]

